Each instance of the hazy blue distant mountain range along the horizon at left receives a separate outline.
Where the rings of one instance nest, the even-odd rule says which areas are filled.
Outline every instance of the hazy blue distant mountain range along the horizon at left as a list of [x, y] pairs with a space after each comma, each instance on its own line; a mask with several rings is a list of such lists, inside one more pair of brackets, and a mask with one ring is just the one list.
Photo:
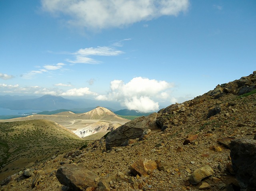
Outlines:
[[[80, 106], [81, 108], [78, 108]], [[105, 107], [117, 115], [122, 116], [147, 116], [150, 113], [136, 112], [136, 110], [121, 109], [116, 102], [96, 101], [90, 99], [66, 99], [62, 96], [44, 95], [36, 96], [0, 96], [0, 108], [10, 110], [40, 110], [37, 114], [52, 115], [60, 112], [71, 111], [73, 113], [85, 113], [97, 106]], [[121, 109], [121, 110], [120, 110]], [[28, 114], [32, 114], [28, 113]], [[20, 116], [15, 116], [20, 117]], [[1, 117], [0, 117], [1, 118]], [[7, 119], [10, 116], [6, 116]]]

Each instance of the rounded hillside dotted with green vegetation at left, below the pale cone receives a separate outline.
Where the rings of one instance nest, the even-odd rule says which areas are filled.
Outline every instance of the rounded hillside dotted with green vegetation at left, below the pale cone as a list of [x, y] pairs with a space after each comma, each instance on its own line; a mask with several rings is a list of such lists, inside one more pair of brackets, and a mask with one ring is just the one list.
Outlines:
[[86, 144], [75, 134], [48, 120], [0, 123], [0, 180], [31, 162]]

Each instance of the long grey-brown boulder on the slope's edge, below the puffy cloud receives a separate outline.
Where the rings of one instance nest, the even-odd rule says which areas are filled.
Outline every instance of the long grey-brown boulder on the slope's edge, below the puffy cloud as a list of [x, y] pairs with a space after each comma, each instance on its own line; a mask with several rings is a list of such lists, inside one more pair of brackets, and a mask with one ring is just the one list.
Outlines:
[[154, 112], [146, 117], [138, 117], [110, 132], [106, 137], [106, 150], [121, 146], [126, 140], [139, 138], [146, 129], [157, 129], [156, 116]]

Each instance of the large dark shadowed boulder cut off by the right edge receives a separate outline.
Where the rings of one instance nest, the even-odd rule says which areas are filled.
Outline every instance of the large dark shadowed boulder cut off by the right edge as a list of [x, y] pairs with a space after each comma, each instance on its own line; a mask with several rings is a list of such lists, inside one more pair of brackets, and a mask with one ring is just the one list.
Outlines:
[[231, 140], [230, 157], [241, 191], [255, 191], [256, 140]]

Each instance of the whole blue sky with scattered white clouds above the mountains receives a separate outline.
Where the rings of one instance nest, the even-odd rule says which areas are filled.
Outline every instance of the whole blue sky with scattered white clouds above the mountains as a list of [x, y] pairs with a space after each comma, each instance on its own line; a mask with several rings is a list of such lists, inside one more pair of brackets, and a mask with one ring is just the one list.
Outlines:
[[256, 70], [255, 0], [0, 0], [0, 95], [158, 110]]

